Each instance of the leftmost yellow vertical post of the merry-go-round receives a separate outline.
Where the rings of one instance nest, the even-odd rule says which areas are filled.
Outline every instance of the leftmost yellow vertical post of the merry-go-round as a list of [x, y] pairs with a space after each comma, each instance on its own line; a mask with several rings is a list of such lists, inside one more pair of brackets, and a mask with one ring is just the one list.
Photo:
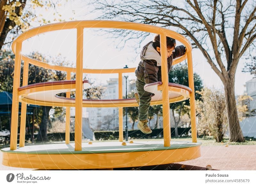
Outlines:
[[20, 87], [20, 64], [21, 64], [21, 46], [22, 43], [16, 43], [16, 56], [14, 63], [13, 90], [12, 90], [12, 124], [10, 150], [17, 149], [18, 138], [18, 117], [19, 117], [19, 91]]

